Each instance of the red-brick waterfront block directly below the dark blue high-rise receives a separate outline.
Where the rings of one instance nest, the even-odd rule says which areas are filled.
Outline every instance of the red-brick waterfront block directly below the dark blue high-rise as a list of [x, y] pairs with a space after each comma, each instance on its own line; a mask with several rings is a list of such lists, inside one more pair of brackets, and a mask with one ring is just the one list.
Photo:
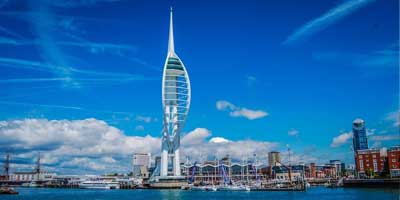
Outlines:
[[356, 151], [356, 170], [360, 175], [371, 176], [384, 170], [386, 152], [379, 149], [363, 149]]

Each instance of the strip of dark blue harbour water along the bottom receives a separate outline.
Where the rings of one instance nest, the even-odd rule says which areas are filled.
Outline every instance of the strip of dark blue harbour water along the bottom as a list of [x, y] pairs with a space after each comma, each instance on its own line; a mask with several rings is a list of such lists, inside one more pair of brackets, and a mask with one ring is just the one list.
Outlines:
[[49, 189], [49, 188], [16, 188], [20, 194], [16, 196], [1, 195], [1, 200], [136, 200], [136, 199], [399, 199], [396, 189], [354, 189], [312, 187], [306, 192], [202, 192], [183, 190], [84, 190], [84, 189]]

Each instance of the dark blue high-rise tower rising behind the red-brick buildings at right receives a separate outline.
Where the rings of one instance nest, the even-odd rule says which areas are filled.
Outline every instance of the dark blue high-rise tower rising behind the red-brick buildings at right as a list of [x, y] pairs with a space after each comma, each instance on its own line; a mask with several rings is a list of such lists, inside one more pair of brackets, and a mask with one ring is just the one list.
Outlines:
[[353, 148], [354, 151], [368, 149], [367, 131], [362, 119], [353, 121]]

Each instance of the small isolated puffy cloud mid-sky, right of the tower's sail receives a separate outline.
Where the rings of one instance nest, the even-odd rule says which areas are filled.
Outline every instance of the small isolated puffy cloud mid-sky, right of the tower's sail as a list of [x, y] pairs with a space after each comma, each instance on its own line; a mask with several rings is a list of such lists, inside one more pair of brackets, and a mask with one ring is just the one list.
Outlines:
[[231, 117], [245, 117], [249, 120], [254, 120], [268, 116], [268, 113], [263, 110], [251, 110], [238, 107], [225, 100], [217, 101], [216, 107], [217, 110], [220, 111], [229, 111]]

